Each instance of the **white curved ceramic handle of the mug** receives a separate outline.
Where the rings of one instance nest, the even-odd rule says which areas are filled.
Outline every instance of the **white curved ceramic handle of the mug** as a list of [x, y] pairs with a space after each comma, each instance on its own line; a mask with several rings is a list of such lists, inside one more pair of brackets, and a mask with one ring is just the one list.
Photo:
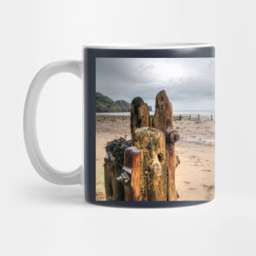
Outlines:
[[38, 99], [43, 86], [53, 75], [64, 72], [75, 74], [82, 79], [83, 64], [81, 61], [52, 62], [43, 67], [42, 70], [39, 70], [38, 74], [36, 74], [32, 80], [25, 100], [23, 119], [25, 146], [35, 170], [48, 182], [59, 185], [82, 184], [82, 166], [79, 166], [79, 168], [76, 168], [74, 171], [65, 173], [52, 168], [52, 166], [47, 163], [47, 160], [43, 157], [42, 151], [40, 150], [36, 131]]

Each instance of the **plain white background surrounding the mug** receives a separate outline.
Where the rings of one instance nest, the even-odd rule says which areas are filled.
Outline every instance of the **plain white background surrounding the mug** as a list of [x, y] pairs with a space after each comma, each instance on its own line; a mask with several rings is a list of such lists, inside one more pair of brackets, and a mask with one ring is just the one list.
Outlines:
[[[0, 2], [1, 255], [255, 255], [254, 1]], [[80, 186], [34, 171], [22, 115], [34, 74], [81, 59], [86, 43], [207, 42], [216, 46], [216, 197], [177, 209], [111, 209]], [[47, 83], [38, 108], [43, 153], [56, 168], [82, 161], [81, 83]]]

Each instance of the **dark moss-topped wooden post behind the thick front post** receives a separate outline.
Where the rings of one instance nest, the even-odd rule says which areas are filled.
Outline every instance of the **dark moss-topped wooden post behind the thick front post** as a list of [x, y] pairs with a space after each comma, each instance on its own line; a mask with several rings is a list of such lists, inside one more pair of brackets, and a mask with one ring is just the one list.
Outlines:
[[135, 136], [135, 130], [141, 127], [150, 127], [150, 111], [149, 107], [144, 103], [141, 97], [135, 97], [131, 103], [132, 140]]

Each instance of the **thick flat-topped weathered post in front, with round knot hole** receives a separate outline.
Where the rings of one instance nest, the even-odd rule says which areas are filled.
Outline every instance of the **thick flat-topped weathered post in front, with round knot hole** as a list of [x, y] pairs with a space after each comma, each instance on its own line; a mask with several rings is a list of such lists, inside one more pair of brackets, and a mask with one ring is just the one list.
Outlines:
[[167, 170], [163, 132], [155, 128], [137, 128], [134, 146], [141, 150], [141, 182], [137, 183], [136, 178], [132, 177], [133, 191], [137, 191], [136, 195], [139, 196], [141, 186], [139, 200], [166, 201]]

